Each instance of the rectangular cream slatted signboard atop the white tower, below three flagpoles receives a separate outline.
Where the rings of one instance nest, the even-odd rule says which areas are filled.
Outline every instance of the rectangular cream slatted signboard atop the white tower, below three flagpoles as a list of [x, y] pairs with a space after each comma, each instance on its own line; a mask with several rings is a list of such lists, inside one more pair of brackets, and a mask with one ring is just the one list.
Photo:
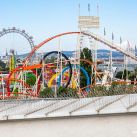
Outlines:
[[99, 28], [99, 17], [79, 16], [79, 28]]

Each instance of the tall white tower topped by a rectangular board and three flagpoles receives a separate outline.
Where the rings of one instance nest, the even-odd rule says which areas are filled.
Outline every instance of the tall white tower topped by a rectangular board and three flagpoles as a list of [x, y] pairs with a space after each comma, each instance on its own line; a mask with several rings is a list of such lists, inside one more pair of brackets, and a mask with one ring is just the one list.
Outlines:
[[[88, 4], [88, 13], [89, 13], [88, 16], [81, 16], [80, 5], [79, 5], [78, 29], [80, 32], [92, 33], [93, 30], [95, 30], [97, 33], [100, 26], [98, 5], [97, 5], [97, 16], [91, 15], [90, 4]], [[91, 37], [88, 37], [87, 39], [85, 37], [87, 36], [84, 36], [82, 34], [79, 36], [79, 43], [77, 46], [78, 47], [77, 51], [79, 51], [79, 58], [80, 58], [81, 49], [83, 48], [83, 46], [87, 46], [92, 52], [91, 53], [93, 57], [92, 59], [93, 59], [93, 62], [95, 63], [95, 68], [96, 68], [97, 67], [97, 42]], [[92, 74], [95, 77], [95, 83], [96, 83], [96, 71], [93, 71]]]

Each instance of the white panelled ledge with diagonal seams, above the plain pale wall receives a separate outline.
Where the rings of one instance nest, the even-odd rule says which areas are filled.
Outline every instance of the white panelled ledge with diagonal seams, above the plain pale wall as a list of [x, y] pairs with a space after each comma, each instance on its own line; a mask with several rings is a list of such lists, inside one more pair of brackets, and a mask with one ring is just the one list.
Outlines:
[[[118, 93], [119, 94], [119, 93]], [[54, 117], [83, 114], [121, 113], [137, 110], [137, 94], [86, 98], [39, 98], [25, 100], [1, 100], [0, 118], [13, 116]], [[16, 117], [15, 117], [16, 118]]]

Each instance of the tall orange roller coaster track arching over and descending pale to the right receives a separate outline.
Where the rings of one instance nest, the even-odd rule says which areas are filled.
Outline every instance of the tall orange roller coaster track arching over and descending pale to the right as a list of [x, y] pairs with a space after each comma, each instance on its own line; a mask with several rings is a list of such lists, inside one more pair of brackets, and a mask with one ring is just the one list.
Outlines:
[[[61, 36], [65, 36], [65, 35], [85, 35], [85, 36], [89, 36], [91, 38], [93, 38], [94, 40], [98, 41], [98, 42], [101, 42], [105, 45], [107, 45], [108, 47], [112, 48], [112, 49], [115, 49], [121, 53], [123, 53], [124, 55], [126, 55], [127, 57], [130, 57], [131, 59], [137, 61], [137, 58], [135, 55], [129, 53], [129, 52], [126, 52], [124, 51], [122, 48], [120, 48], [117, 44], [113, 43], [113, 42], [110, 42], [104, 38], [102, 38], [101, 36], [98, 36], [94, 33], [91, 33], [91, 32], [65, 32], [65, 33], [61, 33], [61, 34], [58, 34], [58, 35], [55, 35], [55, 36], [52, 36], [50, 38], [47, 38], [45, 39], [44, 41], [42, 41], [40, 44], [38, 44], [37, 46], [35, 46], [32, 51], [30, 52], [30, 54], [27, 56], [27, 58], [25, 59], [24, 61], [24, 65], [22, 68], [15, 68], [15, 70], [13, 70], [9, 76], [8, 76], [8, 80], [7, 80], [7, 91], [10, 92], [10, 89], [9, 89], [9, 81], [10, 81], [10, 77], [12, 76], [13, 73], [15, 73], [16, 71], [19, 71], [19, 69], [23, 69], [23, 70], [28, 70], [28, 69], [31, 69], [31, 67], [25, 67], [27, 65], [27, 63], [29, 62], [29, 60], [31, 59], [31, 57], [35, 54], [35, 52], [42, 46], [44, 46], [46, 43], [50, 42], [51, 40], [53, 39], [56, 39], [58, 37], [61, 37]], [[34, 67], [34, 66], [33, 66]], [[36, 67], [36, 66], [35, 66]], [[37, 66], [38, 68], [41, 67], [39, 64]]]

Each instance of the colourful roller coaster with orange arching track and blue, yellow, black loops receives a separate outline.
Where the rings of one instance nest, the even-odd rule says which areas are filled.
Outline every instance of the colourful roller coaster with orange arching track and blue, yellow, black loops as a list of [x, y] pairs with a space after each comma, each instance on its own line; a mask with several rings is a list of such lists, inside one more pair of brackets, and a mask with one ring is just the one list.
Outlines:
[[[79, 39], [79, 46], [76, 51], [76, 56], [73, 59], [68, 58], [63, 52], [51, 51], [49, 52], [50, 54], [47, 53], [45, 55], [47, 58], [44, 58], [43, 56], [38, 64], [33, 64], [32, 58], [38, 49], [42, 46], [46, 46], [48, 42], [66, 35], [76, 35]], [[50, 87], [56, 93], [60, 86], [64, 86], [65, 88], [74, 88], [77, 93], [84, 93], [84, 96], [86, 96], [85, 93], [90, 92], [90, 89], [94, 86], [102, 85], [109, 87], [109, 85], [113, 82], [113, 72], [111, 67], [108, 70], [99, 72], [97, 66], [101, 62], [99, 63], [94, 56], [92, 56], [94, 58], [93, 61], [80, 59], [80, 51], [82, 47], [81, 39], [83, 39], [83, 37], [89, 38], [90, 41], [96, 41], [104, 44], [111, 49], [123, 53], [127, 58], [137, 61], [134, 54], [126, 52], [113, 41], [108, 41], [94, 33], [88, 31], [61, 33], [47, 38], [40, 44], [34, 46], [29, 55], [23, 61], [22, 66], [12, 69], [8, 76], [0, 77], [2, 85], [0, 98], [38, 98], [40, 91], [45, 87]], [[53, 60], [49, 61], [51, 58]], [[84, 62], [85, 64], [91, 66], [91, 75], [89, 75], [86, 70], [80, 66], [80, 62]], [[87, 79], [87, 85], [85, 87], [80, 87], [81, 70]], [[5, 85], [3, 85], [4, 82]], [[135, 82], [136, 81], [134, 81], [134, 83]], [[121, 83], [121, 81], [117, 81], [117, 83]], [[124, 81], [124, 83], [128, 84], [129, 82]]]

